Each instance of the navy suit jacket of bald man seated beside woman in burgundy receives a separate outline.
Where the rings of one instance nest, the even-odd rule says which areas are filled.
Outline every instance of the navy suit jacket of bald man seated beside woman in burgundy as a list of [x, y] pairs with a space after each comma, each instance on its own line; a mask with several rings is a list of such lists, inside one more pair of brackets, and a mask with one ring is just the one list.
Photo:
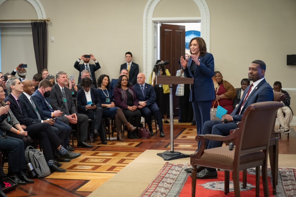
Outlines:
[[142, 90], [140, 87], [140, 84], [135, 84], [133, 85], [133, 89], [136, 92], [136, 97], [139, 101], [146, 101], [146, 105], [150, 106], [155, 102], [156, 100], [156, 93], [154, 91], [154, 88], [152, 87], [152, 85], [145, 83], [144, 84], [144, 95], [142, 94]]

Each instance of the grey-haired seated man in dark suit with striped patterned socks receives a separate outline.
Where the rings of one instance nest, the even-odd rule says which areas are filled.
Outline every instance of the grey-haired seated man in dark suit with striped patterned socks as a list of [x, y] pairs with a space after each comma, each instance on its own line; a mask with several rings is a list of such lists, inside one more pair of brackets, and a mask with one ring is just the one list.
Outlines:
[[28, 132], [32, 138], [38, 138], [41, 141], [44, 157], [46, 159], [49, 169], [54, 172], [66, 172], [65, 169], [60, 168], [62, 164], [54, 160], [55, 149], [58, 149], [59, 156], [67, 161], [79, 157], [80, 153], [72, 153], [67, 151], [61, 144], [60, 139], [52, 130], [49, 123], [41, 123], [35, 119], [28, 118], [27, 111], [19, 100], [20, 94], [23, 92], [24, 85], [17, 77], [12, 77], [7, 81], [8, 97], [5, 101], [10, 102], [10, 109], [17, 121], [21, 124], [24, 131]]

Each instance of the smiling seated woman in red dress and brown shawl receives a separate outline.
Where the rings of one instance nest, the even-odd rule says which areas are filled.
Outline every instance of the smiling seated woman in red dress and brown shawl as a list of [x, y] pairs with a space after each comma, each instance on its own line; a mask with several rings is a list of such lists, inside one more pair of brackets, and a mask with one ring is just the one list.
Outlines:
[[[213, 100], [211, 107], [213, 107], [216, 100], [221, 107], [227, 110], [227, 114], [231, 114], [233, 111], [233, 100], [236, 96], [234, 87], [229, 82], [223, 80], [223, 76], [219, 71], [215, 71], [213, 82], [216, 98]], [[218, 102], [215, 102], [214, 108], [217, 108]]]

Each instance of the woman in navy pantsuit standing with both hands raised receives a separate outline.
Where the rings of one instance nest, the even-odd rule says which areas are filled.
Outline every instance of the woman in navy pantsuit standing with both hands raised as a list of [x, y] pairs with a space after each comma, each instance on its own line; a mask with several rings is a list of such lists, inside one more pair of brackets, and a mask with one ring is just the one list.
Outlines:
[[191, 57], [187, 62], [181, 56], [181, 65], [186, 76], [194, 79], [190, 89], [189, 101], [192, 102], [193, 106], [197, 135], [200, 135], [205, 121], [210, 120], [211, 103], [215, 99], [212, 80], [214, 57], [211, 53], [207, 53], [205, 40], [200, 37], [192, 38], [189, 42], [189, 48]]

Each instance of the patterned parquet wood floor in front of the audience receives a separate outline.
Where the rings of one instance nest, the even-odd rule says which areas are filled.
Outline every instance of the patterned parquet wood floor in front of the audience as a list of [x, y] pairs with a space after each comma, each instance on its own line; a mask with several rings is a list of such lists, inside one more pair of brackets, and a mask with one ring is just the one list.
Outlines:
[[[93, 149], [77, 148], [75, 145], [75, 151], [82, 155], [71, 162], [63, 163], [62, 167], [67, 172], [54, 172], [46, 178], [34, 179], [34, 184], [19, 185], [16, 190], [7, 193], [7, 196], [88, 196], [146, 149], [169, 150], [170, 127], [169, 124], [164, 124], [163, 127], [165, 138], [161, 138], [158, 133], [151, 139], [128, 139], [125, 136], [124, 142], [112, 140], [107, 145], [96, 139]], [[289, 138], [281, 136], [279, 154], [296, 154], [295, 128], [291, 128]], [[174, 150], [196, 150], [195, 136], [195, 126], [189, 123], [174, 124]], [[4, 172], [7, 172], [7, 167], [5, 163]]]

